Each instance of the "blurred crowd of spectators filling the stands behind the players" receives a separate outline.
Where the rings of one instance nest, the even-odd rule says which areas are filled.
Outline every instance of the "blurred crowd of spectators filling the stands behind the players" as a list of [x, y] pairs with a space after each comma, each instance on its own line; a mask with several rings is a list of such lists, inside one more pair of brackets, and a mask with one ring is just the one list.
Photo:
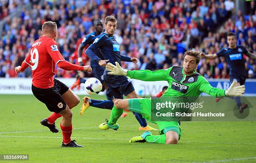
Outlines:
[[[13, 0], [13, 3], [15, 1]], [[4, 7], [5, 6], [5, 7]], [[233, 32], [237, 44], [256, 53], [256, 5], [251, 1], [248, 15], [232, 14], [232, 0], [62, 0], [60, 4], [45, 1], [23, 10], [20, 17], [7, 18], [0, 39], [0, 77], [30, 77], [31, 70], [16, 74], [32, 43], [41, 35], [45, 21], [58, 25], [59, 50], [65, 60], [72, 58], [82, 38], [91, 33], [93, 20], [104, 22], [115, 15], [118, 28], [115, 34], [120, 53], [139, 58], [138, 63], [123, 63], [129, 70], [157, 70], [182, 66], [184, 52], [189, 49], [213, 54], [228, 46], [225, 35]], [[1, 6], [1, 19], [8, 13]], [[256, 78], [256, 63], [246, 59], [248, 78]], [[89, 60], [87, 62], [90, 63]], [[74, 77], [75, 72], [56, 69], [57, 77]], [[225, 58], [202, 59], [198, 72], [206, 78], [228, 78]], [[87, 74], [91, 77], [92, 74]]]

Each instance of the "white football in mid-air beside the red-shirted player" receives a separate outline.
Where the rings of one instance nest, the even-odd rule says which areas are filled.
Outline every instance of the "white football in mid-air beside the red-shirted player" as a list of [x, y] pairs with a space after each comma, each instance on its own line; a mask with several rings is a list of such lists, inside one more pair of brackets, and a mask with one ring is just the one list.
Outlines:
[[84, 83], [84, 89], [89, 95], [95, 95], [102, 90], [102, 83], [97, 78], [89, 78]]

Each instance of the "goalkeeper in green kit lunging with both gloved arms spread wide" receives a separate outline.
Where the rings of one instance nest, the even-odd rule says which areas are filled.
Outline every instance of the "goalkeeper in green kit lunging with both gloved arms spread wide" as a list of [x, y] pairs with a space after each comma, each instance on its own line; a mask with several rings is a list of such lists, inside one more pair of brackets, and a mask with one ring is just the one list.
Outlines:
[[[184, 53], [183, 67], [173, 66], [165, 70], [125, 70], [115, 62], [116, 65], [108, 63], [106, 66], [109, 75], [124, 75], [130, 78], [143, 81], [161, 81], [166, 80], [169, 83], [168, 89], [162, 97], [198, 97], [202, 92], [212, 97], [241, 96], [245, 93], [245, 86], [235, 87], [236, 81], [230, 85], [228, 90], [212, 87], [210, 83], [196, 72], [196, 68], [201, 59], [200, 51], [188, 50]], [[117, 130], [119, 125], [116, 123], [123, 109], [141, 113], [143, 118], [151, 120], [151, 99], [133, 98], [125, 100], [116, 100], [112, 109], [110, 120], [99, 125], [101, 130]], [[154, 121], [153, 121], [154, 122]], [[182, 135], [178, 119], [174, 121], [155, 121], [158, 125], [160, 135], [152, 135], [146, 131], [141, 136], [131, 138], [130, 142], [148, 142], [160, 144], [176, 144]]]

